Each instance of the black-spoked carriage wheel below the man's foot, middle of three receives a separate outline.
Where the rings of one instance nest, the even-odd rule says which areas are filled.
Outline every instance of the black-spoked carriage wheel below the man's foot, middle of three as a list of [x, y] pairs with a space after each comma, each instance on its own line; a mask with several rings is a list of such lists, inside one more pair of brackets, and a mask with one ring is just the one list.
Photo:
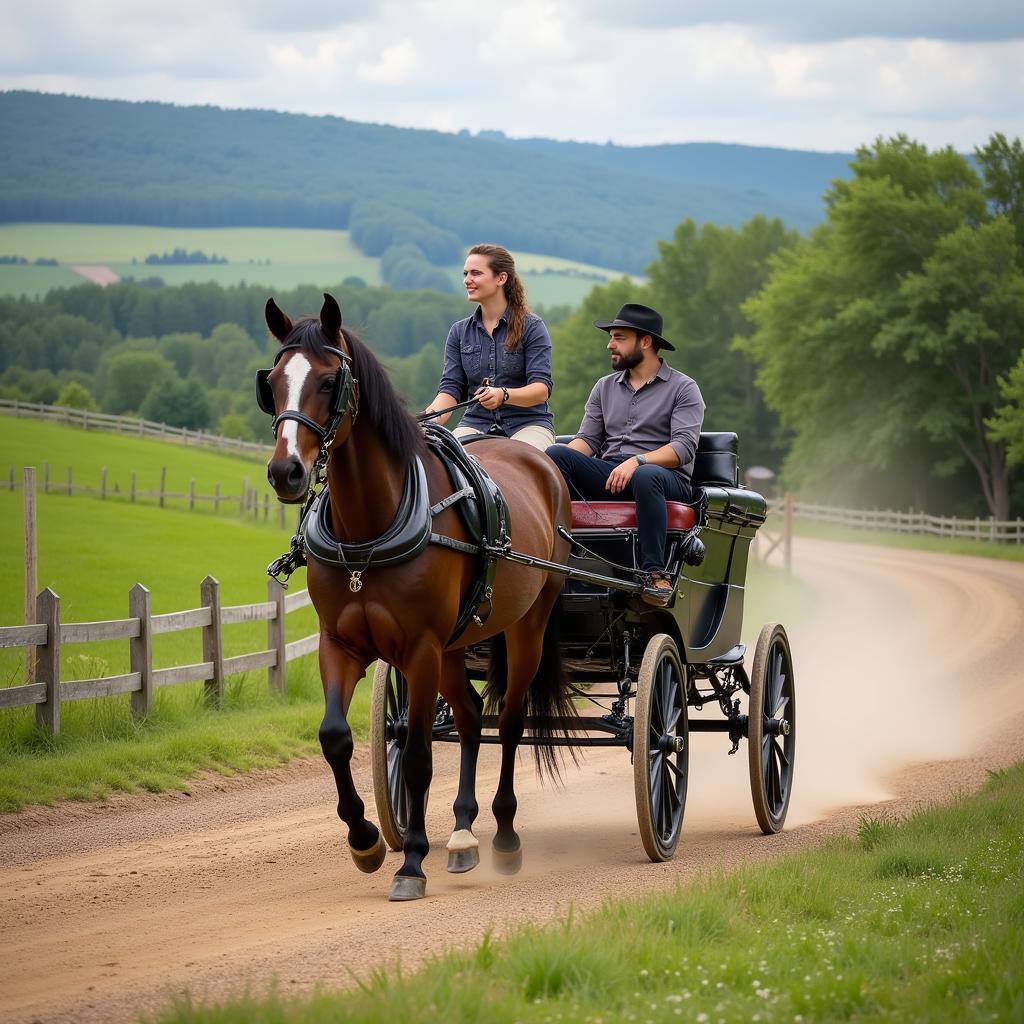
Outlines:
[[633, 719], [637, 822], [653, 861], [671, 859], [679, 844], [689, 759], [686, 673], [675, 641], [658, 633], [644, 650]]

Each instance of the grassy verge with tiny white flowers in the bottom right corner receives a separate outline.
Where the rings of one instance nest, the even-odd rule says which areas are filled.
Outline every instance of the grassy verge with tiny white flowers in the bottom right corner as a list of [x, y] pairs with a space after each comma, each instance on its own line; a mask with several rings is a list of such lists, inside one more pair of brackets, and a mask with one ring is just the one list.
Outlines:
[[179, 1001], [163, 1024], [1024, 1019], [1024, 765], [856, 839], [586, 918], [485, 935], [415, 975]]

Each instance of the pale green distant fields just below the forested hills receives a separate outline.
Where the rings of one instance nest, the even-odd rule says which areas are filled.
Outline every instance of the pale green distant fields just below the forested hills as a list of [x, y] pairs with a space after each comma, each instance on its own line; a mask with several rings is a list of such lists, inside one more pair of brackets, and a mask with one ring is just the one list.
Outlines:
[[[226, 264], [146, 264], [151, 253], [184, 249], [226, 258]], [[381, 284], [380, 260], [366, 256], [348, 231], [287, 227], [151, 227], [132, 224], [0, 224], [0, 255], [56, 259], [60, 266], [0, 264], [0, 294], [40, 297], [52, 288], [82, 284], [73, 264], [109, 266], [119, 276], [162, 278], [167, 285], [243, 282], [271, 288], [327, 287], [345, 278]], [[606, 267], [558, 256], [516, 253], [535, 304], [577, 306], [595, 282], [579, 273], [620, 276]], [[132, 262], [132, 261], [135, 262]], [[446, 268], [458, 289], [461, 266]], [[544, 273], [544, 270], [554, 271]]]

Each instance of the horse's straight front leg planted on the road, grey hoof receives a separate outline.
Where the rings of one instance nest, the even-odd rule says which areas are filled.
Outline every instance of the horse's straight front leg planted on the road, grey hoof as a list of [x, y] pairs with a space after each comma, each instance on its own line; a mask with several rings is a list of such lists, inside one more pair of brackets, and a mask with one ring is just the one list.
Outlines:
[[421, 899], [427, 892], [423, 858], [430, 850], [427, 841], [427, 791], [433, 776], [431, 740], [440, 688], [441, 648], [424, 640], [401, 666], [409, 680], [409, 736], [401, 770], [409, 796], [409, 819], [402, 852], [406, 859], [391, 883], [392, 901]]

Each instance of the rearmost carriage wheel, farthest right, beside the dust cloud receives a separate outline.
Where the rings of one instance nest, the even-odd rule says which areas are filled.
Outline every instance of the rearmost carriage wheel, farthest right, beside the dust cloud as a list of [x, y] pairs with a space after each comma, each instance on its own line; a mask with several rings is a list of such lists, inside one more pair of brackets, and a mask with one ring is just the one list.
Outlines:
[[754, 651], [746, 738], [754, 813], [761, 830], [771, 836], [785, 821], [797, 753], [793, 656], [778, 623], [762, 628]]

